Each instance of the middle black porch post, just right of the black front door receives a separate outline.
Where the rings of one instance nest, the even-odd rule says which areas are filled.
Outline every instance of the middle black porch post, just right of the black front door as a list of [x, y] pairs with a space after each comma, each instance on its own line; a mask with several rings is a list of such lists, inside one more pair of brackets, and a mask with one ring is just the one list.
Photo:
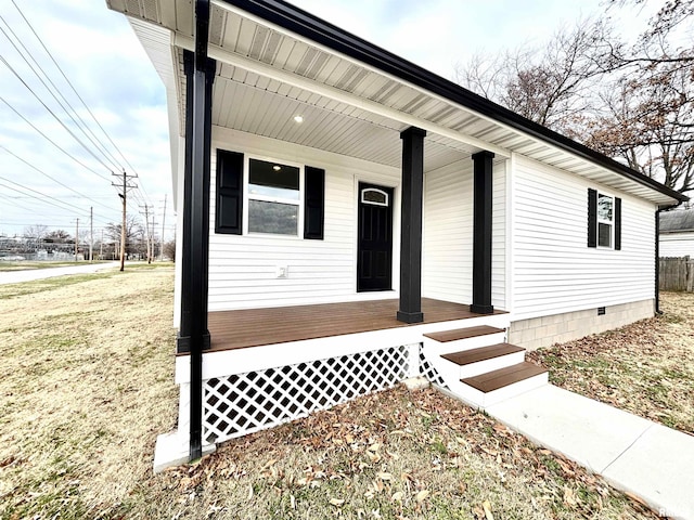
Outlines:
[[410, 127], [402, 139], [402, 211], [400, 235], [400, 310], [398, 321], [421, 323], [422, 314], [422, 194], [424, 191], [424, 136]]

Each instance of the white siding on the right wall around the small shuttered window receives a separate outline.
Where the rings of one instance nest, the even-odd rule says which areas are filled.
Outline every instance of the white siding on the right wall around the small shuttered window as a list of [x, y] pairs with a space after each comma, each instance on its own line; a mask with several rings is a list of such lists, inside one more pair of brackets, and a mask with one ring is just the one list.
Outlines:
[[[516, 156], [514, 318], [654, 298], [655, 206]], [[621, 250], [587, 247], [588, 188], [622, 198]]]

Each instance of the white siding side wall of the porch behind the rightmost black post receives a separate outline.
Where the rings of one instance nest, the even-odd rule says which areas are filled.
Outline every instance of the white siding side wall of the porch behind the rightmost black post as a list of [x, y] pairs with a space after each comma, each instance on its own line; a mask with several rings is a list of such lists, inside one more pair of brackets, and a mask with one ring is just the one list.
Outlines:
[[[505, 161], [493, 165], [491, 302], [505, 308]], [[422, 295], [472, 303], [473, 162], [424, 176]]]

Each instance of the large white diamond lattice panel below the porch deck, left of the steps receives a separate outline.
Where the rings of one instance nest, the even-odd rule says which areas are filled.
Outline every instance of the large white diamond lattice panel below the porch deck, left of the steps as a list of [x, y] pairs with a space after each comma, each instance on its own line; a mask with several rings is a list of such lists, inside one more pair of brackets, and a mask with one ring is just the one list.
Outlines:
[[208, 379], [203, 439], [222, 442], [390, 388], [408, 377], [411, 354], [389, 347]]

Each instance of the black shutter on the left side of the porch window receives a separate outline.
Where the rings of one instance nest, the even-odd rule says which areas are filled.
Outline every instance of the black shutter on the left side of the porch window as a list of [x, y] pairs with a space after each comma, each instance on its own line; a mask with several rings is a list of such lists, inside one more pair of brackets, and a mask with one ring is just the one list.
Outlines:
[[243, 154], [217, 151], [215, 233], [241, 235], [243, 226]]

